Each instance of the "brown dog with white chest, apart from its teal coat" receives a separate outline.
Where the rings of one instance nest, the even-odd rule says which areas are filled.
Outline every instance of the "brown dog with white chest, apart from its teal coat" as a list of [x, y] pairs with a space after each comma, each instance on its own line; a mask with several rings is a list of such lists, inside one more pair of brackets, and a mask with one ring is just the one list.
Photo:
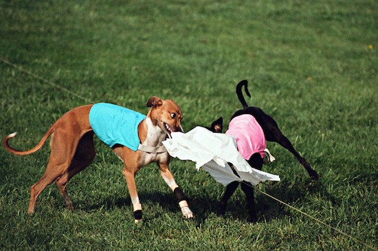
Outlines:
[[[96, 155], [93, 144], [93, 130], [96, 130], [93, 129], [89, 121], [92, 107], [93, 105], [85, 105], [65, 113], [50, 127], [41, 141], [30, 150], [18, 151], [9, 146], [8, 140], [13, 138], [16, 133], [5, 137], [3, 144], [10, 153], [28, 155], [41, 149], [49, 135], [52, 135], [50, 142], [51, 153], [45, 174], [30, 188], [29, 213], [34, 212], [34, 205], [38, 195], [52, 182], [55, 182], [58, 186], [68, 208], [73, 208], [71, 199], [67, 195], [67, 183], [76, 173], [89, 166]], [[168, 166], [170, 156], [164, 148], [162, 150], [162, 141], [166, 139], [167, 135], [170, 135], [173, 131], [182, 131], [181, 120], [183, 116], [181, 109], [173, 100], [162, 100], [155, 96], [148, 100], [147, 107], [151, 107], [147, 116], [140, 114], [142, 121], [139, 124], [135, 124], [135, 133], [137, 131], [135, 137], [140, 140], [140, 148], [134, 149], [134, 151], [118, 142], [115, 142], [116, 144], [112, 146], [114, 153], [124, 162], [123, 173], [126, 177], [127, 187], [133, 203], [135, 223], [142, 220], [142, 205], [137, 195], [135, 174], [142, 166], [151, 162], [157, 162], [164, 181], [175, 193], [184, 217], [187, 219], [192, 218], [193, 214], [188, 207], [184, 193], [177, 186], [170, 172]], [[100, 116], [103, 117], [102, 120], [105, 126], [108, 126], [107, 114], [104, 111], [100, 111]], [[119, 129], [124, 130], [124, 128]], [[115, 129], [114, 131], [118, 133], [120, 130]]]

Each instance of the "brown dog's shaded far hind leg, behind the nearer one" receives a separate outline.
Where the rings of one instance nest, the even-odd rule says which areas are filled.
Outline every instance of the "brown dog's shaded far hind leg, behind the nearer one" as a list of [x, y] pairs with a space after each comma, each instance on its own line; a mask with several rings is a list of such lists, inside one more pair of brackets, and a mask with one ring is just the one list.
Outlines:
[[74, 159], [69, 165], [67, 173], [64, 173], [55, 180], [60, 194], [65, 199], [65, 202], [69, 209], [74, 209], [74, 206], [72, 206], [71, 199], [69, 199], [69, 196], [67, 194], [67, 183], [69, 182], [69, 179], [71, 179], [71, 177], [74, 177], [74, 175], [80, 173], [80, 171], [89, 166], [93, 162], [95, 156], [96, 151], [93, 143], [93, 131], [90, 131], [89, 133], [83, 135], [80, 139], [78, 148], [76, 149], [76, 153], [74, 155]]

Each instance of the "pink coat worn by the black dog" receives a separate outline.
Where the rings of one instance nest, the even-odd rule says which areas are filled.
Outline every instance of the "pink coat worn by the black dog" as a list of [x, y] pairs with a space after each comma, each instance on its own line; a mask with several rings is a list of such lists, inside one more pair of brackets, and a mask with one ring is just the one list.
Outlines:
[[225, 134], [234, 136], [238, 151], [245, 160], [249, 160], [254, 153], [260, 153], [264, 157], [267, 141], [254, 116], [243, 114], [233, 118]]

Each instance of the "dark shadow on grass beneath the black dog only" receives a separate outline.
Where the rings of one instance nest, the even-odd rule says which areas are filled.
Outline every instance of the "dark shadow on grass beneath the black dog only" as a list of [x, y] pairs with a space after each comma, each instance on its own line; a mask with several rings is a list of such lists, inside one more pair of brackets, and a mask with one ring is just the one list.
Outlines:
[[[230, 217], [240, 221], [248, 220], [245, 194], [241, 192], [240, 186], [238, 190], [240, 190], [240, 193], [238, 193], [238, 195], [232, 195], [227, 204], [227, 211], [225, 215], [221, 215], [220, 217]], [[314, 208], [315, 210], [321, 210], [321, 205], [318, 203], [320, 198], [324, 201], [330, 201], [334, 206], [340, 206], [342, 203], [340, 199], [337, 199], [327, 191], [326, 186], [324, 186], [322, 181], [313, 182], [310, 179], [304, 179], [302, 182], [295, 184], [281, 181], [279, 184], [276, 184], [276, 186], [269, 186], [268, 184], [265, 186], [264, 190], [268, 195], [271, 195], [280, 201], [297, 208], [304, 207], [311, 208], [311, 210], [314, 210]], [[223, 190], [220, 190], [219, 193], [221, 196], [221, 194], [223, 194]], [[257, 217], [258, 221], [260, 222], [269, 222], [273, 219], [282, 219], [293, 215], [293, 213], [298, 215], [296, 211], [293, 211], [293, 209], [289, 208], [285, 204], [282, 204], [280, 201], [260, 193], [257, 188], [254, 189], [254, 196], [256, 201]], [[201, 212], [201, 219], [205, 219], [206, 215], [209, 215], [209, 212], [217, 214], [220, 206], [219, 200], [210, 197], [197, 197], [192, 201], [189, 201], [189, 203], [194, 213], [197, 212], [197, 215], [199, 215], [198, 212]], [[302, 211], [306, 212], [305, 210], [306, 209], [302, 209]], [[311, 212], [306, 213], [311, 215]]]

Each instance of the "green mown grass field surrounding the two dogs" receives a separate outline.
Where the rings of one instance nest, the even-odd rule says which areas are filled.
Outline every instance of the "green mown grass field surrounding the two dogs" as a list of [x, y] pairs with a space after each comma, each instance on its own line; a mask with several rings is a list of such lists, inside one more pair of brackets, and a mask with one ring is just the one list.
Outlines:
[[146, 113], [150, 96], [173, 98], [186, 131], [219, 116], [227, 124], [247, 79], [249, 105], [276, 118], [321, 175], [311, 182], [268, 143], [277, 160], [264, 170], [282, 180], [260, 190], [362, 242], [258, 191], [258, 223], [247, 223], [240, 188], [218, 217], [223, 186], [179, 160], [171, 170], [195, 219], [182, 218], [151, 164], [137, 174], [144, 225], [135, 227], [122, 164], [96, 139], [95, 162], [67, 187], [75, 210], [52, 184], [32, 216], [30, 186], [49, 147], [25, 157], [1, 147], [0, 250], [377, 250], [377, 11], [374, 0], [0, 0], [0, 136], [18, 131], [12, 146], [31, 148], [89, 102]]

